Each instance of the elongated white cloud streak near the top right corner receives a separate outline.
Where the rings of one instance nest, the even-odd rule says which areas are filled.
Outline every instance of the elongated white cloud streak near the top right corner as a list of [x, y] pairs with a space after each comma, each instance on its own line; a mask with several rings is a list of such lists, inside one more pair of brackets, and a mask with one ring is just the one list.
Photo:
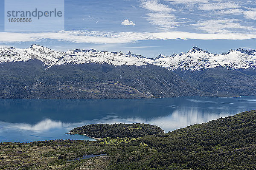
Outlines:
[[198, 7], [198, 9], [204, 10], [204, 11], [221, 10], [221, 9], [229, 9], [229, 8], [239, 8], [239, 5], [234, 2], [226, 2], [226, 3], [206, 3]]

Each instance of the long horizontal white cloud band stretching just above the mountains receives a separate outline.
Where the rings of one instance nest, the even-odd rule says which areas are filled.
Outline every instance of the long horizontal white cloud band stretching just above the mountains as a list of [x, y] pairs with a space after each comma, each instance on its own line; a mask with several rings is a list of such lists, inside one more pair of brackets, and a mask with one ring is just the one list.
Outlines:
[[[215, 23], [212, 23], [214, 25]], [[208, 24], [209, 25], [209, 24]], [[212, 26], [211, 25], [211, 26]], [[237, 26], [237, 25], [236, 25]], [[209, 31], [209, 26], [204, 26]], [[0, 42], [39, 42], [58, 40], [74, 43], [116, 44], [138, 40], [247, 40], [256, 38], [253, 33], [212, 31], [212, 33], [190, 33], [185, 31], [166, 32], [99, 32], [99, 31], [58, 31], [42, 33], [0, 32]]]

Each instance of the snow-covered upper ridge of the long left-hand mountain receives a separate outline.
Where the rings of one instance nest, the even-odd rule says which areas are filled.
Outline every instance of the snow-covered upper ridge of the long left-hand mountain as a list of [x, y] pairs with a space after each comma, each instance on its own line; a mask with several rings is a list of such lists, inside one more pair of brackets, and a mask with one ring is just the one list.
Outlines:
[[47, 66], [62, 64], [107, 63], [111, 65], [148, 65], [150, 59], [128, 52], [107, 52], [90, 50], [70, 50], [59, 52], [40, 45], [31, 45], [30, 48], [0, 48], [0, 63], [28, 61], [38, 59]]

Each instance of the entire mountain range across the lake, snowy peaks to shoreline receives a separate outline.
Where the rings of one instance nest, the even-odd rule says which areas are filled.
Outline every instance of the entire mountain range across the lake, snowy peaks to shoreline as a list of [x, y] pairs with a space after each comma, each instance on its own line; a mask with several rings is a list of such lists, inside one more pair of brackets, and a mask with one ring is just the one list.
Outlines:
[[198, 47], [154, 59], [131, 52], [0, 47], [0, 98], [256, 95], [256, 51]]

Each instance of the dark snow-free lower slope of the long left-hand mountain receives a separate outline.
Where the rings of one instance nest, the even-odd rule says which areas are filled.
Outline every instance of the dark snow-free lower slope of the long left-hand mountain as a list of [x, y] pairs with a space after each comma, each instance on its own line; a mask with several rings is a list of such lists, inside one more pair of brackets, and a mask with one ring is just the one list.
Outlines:
[[156, 65], [67, 64], [45, 69], [43, 62], [0, 65], [0, 98], [131, 99], [196, 96], [200, 91]]

